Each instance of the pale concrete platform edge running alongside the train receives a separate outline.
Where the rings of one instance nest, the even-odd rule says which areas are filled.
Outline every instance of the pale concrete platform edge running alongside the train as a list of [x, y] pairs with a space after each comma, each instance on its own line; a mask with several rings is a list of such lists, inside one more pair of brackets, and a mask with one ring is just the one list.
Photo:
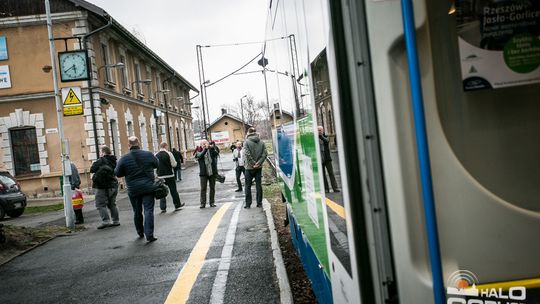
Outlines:
[[274, 225], [274, 218], [272, 216], [272, 208], [268, 200], [263, 200], [263, 210], [266, 213], [266, 220], [268, 222], [268, 230], [270, 231], [270, 240], [272, 241], [272, 255], [274, 257], [274, 265], [276, 267], [276, 276], [279, 284], [279, 298], [281, 304], [292, 304], [293, 298], [291, 293], [291, 286], [289, 283], [289, 277], [285, 270], [285, 263], [283, 262], [283, 256], [281, 255], [281, 248], [279, 247], [279, 241], [276, 233], [276, 226]]

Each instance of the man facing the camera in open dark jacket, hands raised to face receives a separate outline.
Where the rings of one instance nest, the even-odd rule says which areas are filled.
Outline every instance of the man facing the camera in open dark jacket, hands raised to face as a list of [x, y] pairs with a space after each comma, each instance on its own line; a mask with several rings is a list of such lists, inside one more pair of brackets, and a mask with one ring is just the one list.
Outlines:
[[206, 207], [206, 189], [210, 185], [210, 207], [216, 207], [216, 174], [217, 174], [217, 158], [219, 152], [214, 144], [209, 144], [208, 141], [201, 141], [201, 150], [195, 153], [195, 159], [199, 162], [199, 178], [201, 181], [201, 206]]

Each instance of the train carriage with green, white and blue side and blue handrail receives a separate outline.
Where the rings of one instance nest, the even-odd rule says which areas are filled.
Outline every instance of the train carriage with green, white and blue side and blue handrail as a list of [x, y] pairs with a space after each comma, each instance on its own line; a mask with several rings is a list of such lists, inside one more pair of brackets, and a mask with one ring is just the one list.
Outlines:
[[320, 303], [540, 302], [539, 37], [538, 1], [270, 1], [276, 163]]

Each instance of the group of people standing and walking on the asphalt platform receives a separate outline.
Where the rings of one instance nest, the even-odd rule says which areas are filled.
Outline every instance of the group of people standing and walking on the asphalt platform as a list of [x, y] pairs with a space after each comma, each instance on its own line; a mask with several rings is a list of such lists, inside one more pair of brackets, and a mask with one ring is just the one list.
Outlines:
[[[245, 146], [245, 147], [244, 147]], [[182, 154], [173, 149], [170, 152], [166, 142], [161, 143], [160, 150], [155, 155], [140, 148], [139, 139], [135, 136], [128, 138], [129, 152], [119, 160], [112, 154], [107, 146], [100, 148], [100, 157], [91, 168], [92, 187], [95, 188], [96, 209], [101, 217], [101, 224], [97, 229], [115, 227], [120, 225], [116, 197], [118, 195], [118, 178], [125, 178], [128, 197], [134, 212], [135, 230], [140, 238], [146, 237], [148, 242], [154, 242], [154, 190], [156, 176], [165, 181], [172, 197], [174, 211], [180, 210], [185, 204], [181, 202], [176, 189], [176, 182], [182, 179]], [[199, 178], [201, 186], [200, 208], [205, 208], [207, 191], [209, 188], [208, 205], [216, 207], [215, 185], [219, 178], [218, 161], [219, 148], [214, 142], [203, 140], [194, 152], [199, 164]], [[262, 206], [262, 165], [266, 159], [267, 151], [264, 142], [254, 128], [248, 130], [245, 143], [237, 142], [233, 151], [233, 161], [236, 163], [237, 192], [243, 190], [241, 175], [245, 177], [245, 205], [250, 208], [252, 204], [251, 186], [255, 179], [257, 207]], [[70, 183], [73, 190], [80, 187], [80, 177], [77, 168], [72, 163]], [[156, 173], [154, 173], [154, 171]], [[166, 198], [161, 198], [159, 207], [162, 213], [167, 212]], [[75, 209], [76, 224], [84, 222], [82, 209]]]

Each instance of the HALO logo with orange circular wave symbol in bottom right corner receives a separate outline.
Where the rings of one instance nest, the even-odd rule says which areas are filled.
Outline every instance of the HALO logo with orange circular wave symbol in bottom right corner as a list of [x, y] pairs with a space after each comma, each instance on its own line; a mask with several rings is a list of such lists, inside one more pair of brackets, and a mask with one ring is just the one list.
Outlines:
[[479, 288], [478, 277], [471, 271], [458, 270], [446, 284], [447, 304], [525, 304], [524, 286]]

